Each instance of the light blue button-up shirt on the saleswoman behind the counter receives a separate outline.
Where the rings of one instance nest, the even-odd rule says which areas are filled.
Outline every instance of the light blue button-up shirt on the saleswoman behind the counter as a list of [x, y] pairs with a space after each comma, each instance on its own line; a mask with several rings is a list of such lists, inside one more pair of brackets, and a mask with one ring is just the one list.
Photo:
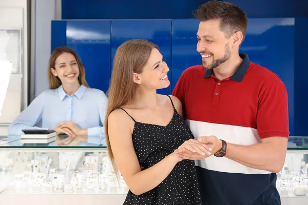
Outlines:
[[98, 136], [98, 141], [104, 142], [107, 101], [103, 91], [83, 85], [71, 96], [62, 86], [45, 90], [12, 122], [8, 134], [21, 135], [24, 129], [55, 129], [62, 122], [72, 121], [87, 129], [88, 135]]

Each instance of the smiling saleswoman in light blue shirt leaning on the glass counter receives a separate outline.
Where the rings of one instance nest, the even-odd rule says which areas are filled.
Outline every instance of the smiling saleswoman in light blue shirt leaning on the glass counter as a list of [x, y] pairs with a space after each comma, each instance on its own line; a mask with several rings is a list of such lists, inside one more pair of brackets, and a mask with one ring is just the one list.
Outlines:
[[[9, 126], [9, 135], [24, 129], [49, 129], [57, 134], [105, 138], [107, 97], [89, 88], [78, 55], [68, 47], [54, 49], [49, 59], [49, 90], [38, 95]], [[37, 125], [40, 125], [38, 127]]]

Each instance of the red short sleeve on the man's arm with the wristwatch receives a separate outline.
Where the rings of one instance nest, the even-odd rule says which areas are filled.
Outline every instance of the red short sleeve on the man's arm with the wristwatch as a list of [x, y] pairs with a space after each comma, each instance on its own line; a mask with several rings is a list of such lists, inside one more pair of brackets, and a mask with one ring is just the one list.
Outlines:
[[281, 80], [273, 81], [261, 89], [258, 99], [257, 129], [260, 138], [287, 137], [288, 109], [287, 93]]

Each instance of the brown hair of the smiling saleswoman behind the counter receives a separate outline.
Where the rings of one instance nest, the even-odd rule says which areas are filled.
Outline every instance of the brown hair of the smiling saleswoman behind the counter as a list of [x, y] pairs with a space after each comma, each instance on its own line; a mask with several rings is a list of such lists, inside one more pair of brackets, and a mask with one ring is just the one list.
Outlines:
[[61, 82], [60, 78], [54, 76], [51, 73], [51, 70], [50, 70], [51, 68], [55, 69], [55, 60], [62, 53], [71, 53], [75, 57], [75, 59], [77, 61], [77, 65], [79, 67], [79, 76], [78, 76], [79, 84], [80, 85], [84, 85], [85, 87], [89, 87], [88, 84], [87, 84], [87, 81], [86, 81], [85, 67], [81, 63], [81, 60], [78, 57], [78, 55], [76, 54], [76, 52], [73, 49], [69, 48], [69, 47], [61, 46], [61, 47], [55, 48], [52, 51], [51, 56], [49, 58], [49, 64], [48, 64], [49, 89], [56, 89], [56, 88], [59, 88], [59, 86], [62, 85], [62, 82]]

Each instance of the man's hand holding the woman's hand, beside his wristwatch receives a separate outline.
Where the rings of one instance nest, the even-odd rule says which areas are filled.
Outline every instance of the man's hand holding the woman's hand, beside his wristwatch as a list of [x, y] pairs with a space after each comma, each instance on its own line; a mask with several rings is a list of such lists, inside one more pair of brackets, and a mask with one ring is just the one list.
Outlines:
[[207, 152], [205, 155], [201, 155], [197, 152], [192, 152], [188, 149], [179, 147], [178, 152], [182, 155], [183, 159], [200, 160], [215, 154], [221, 150], [222, 141], [216, 136], [202, 136], [197, 140], [203, 147], [206, 147]]

